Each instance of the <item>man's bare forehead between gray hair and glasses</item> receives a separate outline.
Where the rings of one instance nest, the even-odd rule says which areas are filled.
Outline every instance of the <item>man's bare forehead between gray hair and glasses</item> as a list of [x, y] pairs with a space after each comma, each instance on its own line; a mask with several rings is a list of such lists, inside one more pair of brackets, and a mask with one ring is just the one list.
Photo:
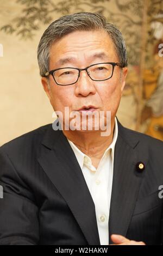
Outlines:
[[49, 65], [115, 61], [116, 52], [110, 36], [105, 31], [76, 31], [54, 42], [50, 50]]

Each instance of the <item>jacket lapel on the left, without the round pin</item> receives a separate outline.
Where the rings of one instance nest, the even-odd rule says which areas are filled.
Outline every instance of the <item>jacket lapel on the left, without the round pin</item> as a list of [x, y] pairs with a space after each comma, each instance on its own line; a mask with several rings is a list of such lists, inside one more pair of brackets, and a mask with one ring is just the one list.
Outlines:
[[42, 144], [46, 148], [38, 159], [40, 165], [66, 200], [89, 245], [100, 245], [95, 205], [64, 133], [51, 126]]

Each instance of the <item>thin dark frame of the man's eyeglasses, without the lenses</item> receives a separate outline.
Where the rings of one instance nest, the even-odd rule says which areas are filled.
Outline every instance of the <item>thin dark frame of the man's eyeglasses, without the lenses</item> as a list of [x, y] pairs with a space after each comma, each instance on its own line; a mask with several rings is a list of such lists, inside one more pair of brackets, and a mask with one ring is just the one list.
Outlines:
[[[95, 80], [95, 79], [92, 79], [92, 78], [91, 78], [91, 76], [90, 76], [89, 72], [87, 71], [87, 69], [89, 69], [91, 66], [95, 66], [95, 65], [98, 65], [98, 64], [111, 64], [111, 65], [112, 65], [112, 74], [111, 74], [111, 76], [110, 76], [109, 78], [106, 78], [106, 79], [104, 79], [104, 80]], [[52, 70], [47, 71], [47, 72], [45, 73], [45, 77], [47, 77], [47, 76], [49, 76], [49, 75], [52, 75], [52, 77], [53, 77], [55, 83], [57, 83], [59, 86], [71, 86], [71, 84], [75, 84], [75, 83], [78, 82], [78, 79], [79, 79], [79, 76], [80, 76], [80, 72], [83, 71], [83, 70], [85, 70], [85, 71], [87, 72], [87, 75], [91, 78], [92, 81], [106, 81], [106, 80], [109, 80], [109, 79], [112, 77], [115, 66], [120, 66], [121, 68], [123, 68], [122, 64], [121, 64], [121, 63], [118, 63], [118, 62], [102, 62], [102, 63], [96, 63], [96, 64], [92, 64], [92, 65], [90, 65], [90, 66], [86, 66], [85, 69], [78, 69], [78, 68], [72, 68], [72, 67], [65, 67], [65, 68], [59, 68], [59, 69], [52, 69]], [[55, 80], [54, 72], [57, 71], [57, 70], [60, 70], [60, 69], [76, 69], [76, 70], [78, 70], [79, 73], [78, 73], [78, 78], [77, 78], [76, 82], [70, 83], [70, 84], [59, 84], [59, 83]]]

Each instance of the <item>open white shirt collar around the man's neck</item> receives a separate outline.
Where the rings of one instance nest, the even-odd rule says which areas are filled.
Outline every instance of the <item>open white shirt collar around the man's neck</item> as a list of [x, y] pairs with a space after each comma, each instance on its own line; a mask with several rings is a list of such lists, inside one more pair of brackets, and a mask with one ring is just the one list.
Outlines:
[[[109, 145], [109, 147], [106, 148], [106, 150], [103, 154], [103, 157], [109, 151], [109, 149], [111, 149], [111, 157], [112, 157], [112, 160], [114, 160], [114, 151], [115, 151], [115, 144], [116, 144], [116, 141], [117, 141], [117, 137], [118, 137], [118, 124], [117, 124], [117, 119], [115, 117], [115, 127], [114, 127], [113, 139], [112, 139], [112, 142]], [[83, 168], [83, 163], [84, 163], [84, 157], [87, 156], [87, 155], [85, 155], [80, 149], [78, 149], [77, 146], [72, 141], [70, 141], [69, 139], [67, 139], [67, 141], [70, 143], [71, 148], [72, 148], [72, 150], [73, 150], [73, 152], [76, 155], [76, 158], [78, 160], [79, 166], [82, 169]]]

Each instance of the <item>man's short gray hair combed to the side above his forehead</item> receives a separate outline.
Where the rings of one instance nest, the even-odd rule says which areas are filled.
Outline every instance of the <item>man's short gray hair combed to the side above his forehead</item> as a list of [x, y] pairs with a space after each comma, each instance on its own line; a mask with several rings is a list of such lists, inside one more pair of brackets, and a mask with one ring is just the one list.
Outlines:
[[46, 72], [49, 71], [49, 52], [55, 41], [74, 31], [99, 30], [104, 30], [109, 34], [122, 68], [127, 66], [126, 45], [121, 32], [111, 23], [107, 23], [102, 14], [81, 12], [62, 16], [53, 21], [41, 36], [37, 48], [40, 75], [45, 77]]

